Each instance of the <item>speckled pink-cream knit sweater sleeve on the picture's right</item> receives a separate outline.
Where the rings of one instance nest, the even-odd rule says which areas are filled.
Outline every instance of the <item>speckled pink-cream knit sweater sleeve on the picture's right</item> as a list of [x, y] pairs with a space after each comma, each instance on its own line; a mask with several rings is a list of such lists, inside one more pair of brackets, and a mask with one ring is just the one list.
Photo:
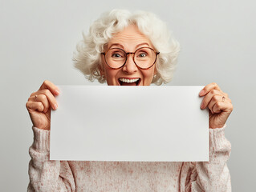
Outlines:
[[225, 128], [226, 124], [209, 129], [209, 162], [185, 162], [182, 191], [231, 191], [230, 171], [226, 164], [231, 144], [225, 137]]

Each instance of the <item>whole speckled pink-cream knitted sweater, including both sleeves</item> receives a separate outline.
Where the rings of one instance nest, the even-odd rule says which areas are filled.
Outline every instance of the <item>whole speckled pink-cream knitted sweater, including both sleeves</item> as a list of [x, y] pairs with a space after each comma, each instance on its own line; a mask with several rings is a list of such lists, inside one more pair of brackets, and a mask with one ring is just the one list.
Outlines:
[[50, 161], [50, 131], [32, 127], [28, 191], [231, 191], [225, 126], [209, 129], [209, 162]]

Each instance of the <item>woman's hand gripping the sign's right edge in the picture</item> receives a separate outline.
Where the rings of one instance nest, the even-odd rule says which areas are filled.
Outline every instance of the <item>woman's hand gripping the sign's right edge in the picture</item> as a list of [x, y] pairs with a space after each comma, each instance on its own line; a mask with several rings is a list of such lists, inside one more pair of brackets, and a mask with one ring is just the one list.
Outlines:
[[201, 109], [209, 108], [209, 128], [221, 128], [230, 116], [233, 105], [228, 94], [222, 92], [217, 83], [205, 86], [199, 96], [205, 96], [201, 102]]

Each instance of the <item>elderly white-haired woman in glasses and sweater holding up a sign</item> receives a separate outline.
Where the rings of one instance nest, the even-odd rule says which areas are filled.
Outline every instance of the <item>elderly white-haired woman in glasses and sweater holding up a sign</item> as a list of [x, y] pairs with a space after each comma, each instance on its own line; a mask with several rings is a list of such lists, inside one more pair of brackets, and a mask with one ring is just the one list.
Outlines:
[[[112, 10], [79, 42], [75, 67], [108, 86], [170, 82], [179, 43], [154, 14]], [[59, 89], [45, 81], [26, 108], [33, 123], [29, 191], [230, 191], [230, 142], [224, 129], [233, 106], [216, 83], [205, 86], [201, 109], [209, 108], [209, 162], [67, 162], [49, 160], [51, 109]]]

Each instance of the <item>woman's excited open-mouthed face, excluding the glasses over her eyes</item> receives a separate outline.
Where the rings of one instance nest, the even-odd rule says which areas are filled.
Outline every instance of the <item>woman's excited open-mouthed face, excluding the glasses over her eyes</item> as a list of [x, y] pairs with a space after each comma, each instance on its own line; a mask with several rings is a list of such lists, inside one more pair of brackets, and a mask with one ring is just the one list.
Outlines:
[[[137, 26], [130, 25], [124, 30], [115, 34], [108, 42], [105, 50], [112, 48], [120, 48], [126, 53], [135, 52], [140, 47], [151, 47], [150, 40], [140, 33]], [[104, 75], [108, 86], [149, 86], [152, 82], [154, 74], [156, 74], [156, 65], [153, 65], [148, 70], [140, 69], [132, 59], [133, 55], [127, 55], [127, 61], [120, 69], [110, 68], [104, 60], [104, 55], [101, 56], [104, 69], [100, 70], [100, 74]]]

